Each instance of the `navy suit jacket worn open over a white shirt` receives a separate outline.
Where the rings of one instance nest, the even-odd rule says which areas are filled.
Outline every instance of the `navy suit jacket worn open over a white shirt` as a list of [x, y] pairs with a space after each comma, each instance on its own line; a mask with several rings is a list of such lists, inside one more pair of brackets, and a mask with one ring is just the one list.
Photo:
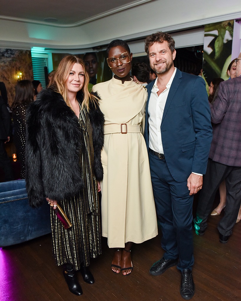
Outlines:
[[[149, 148], [148, 104], [154, 81], [147, 85], [144, 137]], [[205, 174], [212, 141], [208, 95], [204, 80], [177, 69], [161, 121], [161, 140], [165, 160], [177, 182], [191, 172]]]

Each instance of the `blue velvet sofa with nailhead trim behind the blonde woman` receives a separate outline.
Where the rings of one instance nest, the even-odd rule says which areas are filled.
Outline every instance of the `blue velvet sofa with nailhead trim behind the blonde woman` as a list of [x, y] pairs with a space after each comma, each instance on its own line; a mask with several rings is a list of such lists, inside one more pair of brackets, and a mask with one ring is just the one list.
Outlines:
[[0, 183], [0, 247], [19, 244], [51, 232], [48, 203], [29, 206], [25, 180]]

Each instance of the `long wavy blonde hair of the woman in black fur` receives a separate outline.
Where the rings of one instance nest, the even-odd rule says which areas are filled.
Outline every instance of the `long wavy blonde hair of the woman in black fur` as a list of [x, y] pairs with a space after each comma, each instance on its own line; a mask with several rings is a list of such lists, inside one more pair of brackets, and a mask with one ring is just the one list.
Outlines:
[[92, 102], [92, 104], [96, 107], [98, 98], [90, 94], [88, 91], [89, 75], [85, 69], [85, 64], [83, 60], [76, 57], [75, 55], [67, 55], [66, 57], [64, 57], [60, 61], [58, 68], [55, 72], [53, 86], [55, 87], [56, 91], [63, 96], [67, 106], [69, 106], [73, 110], [70, 101], [68, 99], [68, 89], [67, 89], [66, 81], [70, 74], [70, 70], [72, 69], [72, 66], [75, 63], [80, 64], [84, 70], [84, 85], [81, 89], [83, 92], [82, 107], [85, 106], [87, 111], [89, 111], [89, 103]]

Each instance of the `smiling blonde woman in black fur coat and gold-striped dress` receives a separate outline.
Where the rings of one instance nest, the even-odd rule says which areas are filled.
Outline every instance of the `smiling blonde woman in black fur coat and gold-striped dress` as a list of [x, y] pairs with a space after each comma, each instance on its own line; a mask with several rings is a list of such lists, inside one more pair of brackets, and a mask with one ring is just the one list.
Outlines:
[[[64, 265], [69, 290], [82, 295], [76, 271], [89, 284], [90, 257], [101, 253], [98, 190], [104, 116], [97, 94], [88, 92], [84, 63], [69, 55], [60, 62], [50, 88], [27, 111], [26, 187], [30, 205], [52, 206], [53, 255]], [[54, 214], [57, 203], [72, 227], [64, 229]]]

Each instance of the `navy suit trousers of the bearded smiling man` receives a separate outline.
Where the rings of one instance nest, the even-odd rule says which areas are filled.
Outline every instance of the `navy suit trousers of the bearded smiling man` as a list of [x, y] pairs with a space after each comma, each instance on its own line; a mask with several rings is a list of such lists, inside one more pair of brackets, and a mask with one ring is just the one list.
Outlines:
[[176, 182], [169, 172], [167, 163], [149, 153], [153, 194], [158, 220], [161, 225], [161, 247], [165, 259], [179, 257], [177, 268], [192, 269], [193, 233], [192, 203], [187, 181]]

